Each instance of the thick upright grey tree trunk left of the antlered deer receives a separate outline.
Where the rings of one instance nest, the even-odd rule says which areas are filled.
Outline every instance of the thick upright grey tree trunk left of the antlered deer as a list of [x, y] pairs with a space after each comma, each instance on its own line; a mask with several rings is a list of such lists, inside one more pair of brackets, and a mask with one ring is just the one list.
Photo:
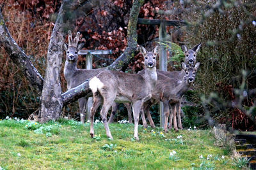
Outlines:
[[61, 99], [60, 69], [63, 57], [63, 8], [67, 3], [62, 1], [58, 18], [55, 22], [47, 53], [44, 88], [41, 96], [40, 122], [56, 120], [63, 107]]

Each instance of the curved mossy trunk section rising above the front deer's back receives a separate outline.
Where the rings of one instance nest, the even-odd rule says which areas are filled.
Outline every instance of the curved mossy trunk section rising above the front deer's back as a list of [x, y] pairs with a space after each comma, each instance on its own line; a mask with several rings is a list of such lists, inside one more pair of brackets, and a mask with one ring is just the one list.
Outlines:
[[140, 13], [140, 7], [144, 3], [144, 0], [135, 0], [132, 4], [132, 9], [130, 12], [128, 27], [127, 27], [127, 36], [128, 36], [128, 46], [125, 49], [124, 53], [118, 57], [118, 59], [111, 64], [108, 69], [120, 70], [122, 67], [127, 66], [131, 59], [134, 58], [137, 48], [137, 22], [138, 16]]

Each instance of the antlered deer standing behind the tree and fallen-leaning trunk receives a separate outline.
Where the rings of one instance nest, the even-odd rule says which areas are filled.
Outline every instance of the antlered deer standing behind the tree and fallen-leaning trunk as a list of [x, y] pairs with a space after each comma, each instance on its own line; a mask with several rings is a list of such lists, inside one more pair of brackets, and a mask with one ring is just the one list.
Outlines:
[[[72, 39], [71, 31], [68, 31], [68, 45], [64, 44], [64, 50], [66, 52], [66, 61], [64, 66], [64, 77], [67, 81], [67, 89], [72, 89], [80, 85], [84, 81], [96, 76], [101, 71], [104, 71], [106, 68], [100, 69], [77, 69], [77, 59], [78, 53], [83, 48], [83, 43], [79, 43], [80, 32], [77, 32], [74, 40]], [[86, 104], [88, 97], [92, 97], [92, 93], [88, 94], [85, 97], [78, 99], [79, 103], [79, 112], [81, 117], [81, 122], [84, 124]], [[112, 113], [115, 113], [117, 109], [116, 103], [112, 105]]]

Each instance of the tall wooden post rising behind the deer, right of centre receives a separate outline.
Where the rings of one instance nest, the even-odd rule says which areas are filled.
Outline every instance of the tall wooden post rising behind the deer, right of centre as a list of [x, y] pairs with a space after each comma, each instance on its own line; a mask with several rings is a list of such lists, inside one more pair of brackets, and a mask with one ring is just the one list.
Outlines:
[[[159, 27], [159, 42], [160, 42], [160, 52], [159, 52], [159, 69], [162, 71], [167, 71], [167, 53], [166, 47], [162, 44], [166, 41], [166, 22], [161, 21]], [[160, 113], [160, 126], [164, 127], [164, 110], [163, 103], [159, 103], [159, 113]], [[166, 120], [168, 121], [168, 120]]]

